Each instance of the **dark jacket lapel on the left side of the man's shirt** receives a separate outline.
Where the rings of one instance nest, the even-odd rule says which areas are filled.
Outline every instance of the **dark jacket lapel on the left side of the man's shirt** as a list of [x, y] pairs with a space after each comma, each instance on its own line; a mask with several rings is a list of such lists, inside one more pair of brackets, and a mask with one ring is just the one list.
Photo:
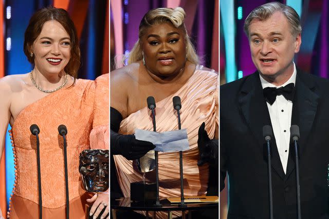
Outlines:
[[[266, 101], [263, 96], [263, 89], [258, 72], [255, 72], [253, 75], [246, 78], [239, 94], [239, 105], [251, 132], [257, 139], [260, 152], [266, 154], [263, 126], [271, 125], [271, 121]], [[275, 137], [271, 140], [271, 155], [271, 166], [283, 179], [285, 174], [282, 168]], [[267, 162], [267, 157], [265, 158], [265, 161]]]

